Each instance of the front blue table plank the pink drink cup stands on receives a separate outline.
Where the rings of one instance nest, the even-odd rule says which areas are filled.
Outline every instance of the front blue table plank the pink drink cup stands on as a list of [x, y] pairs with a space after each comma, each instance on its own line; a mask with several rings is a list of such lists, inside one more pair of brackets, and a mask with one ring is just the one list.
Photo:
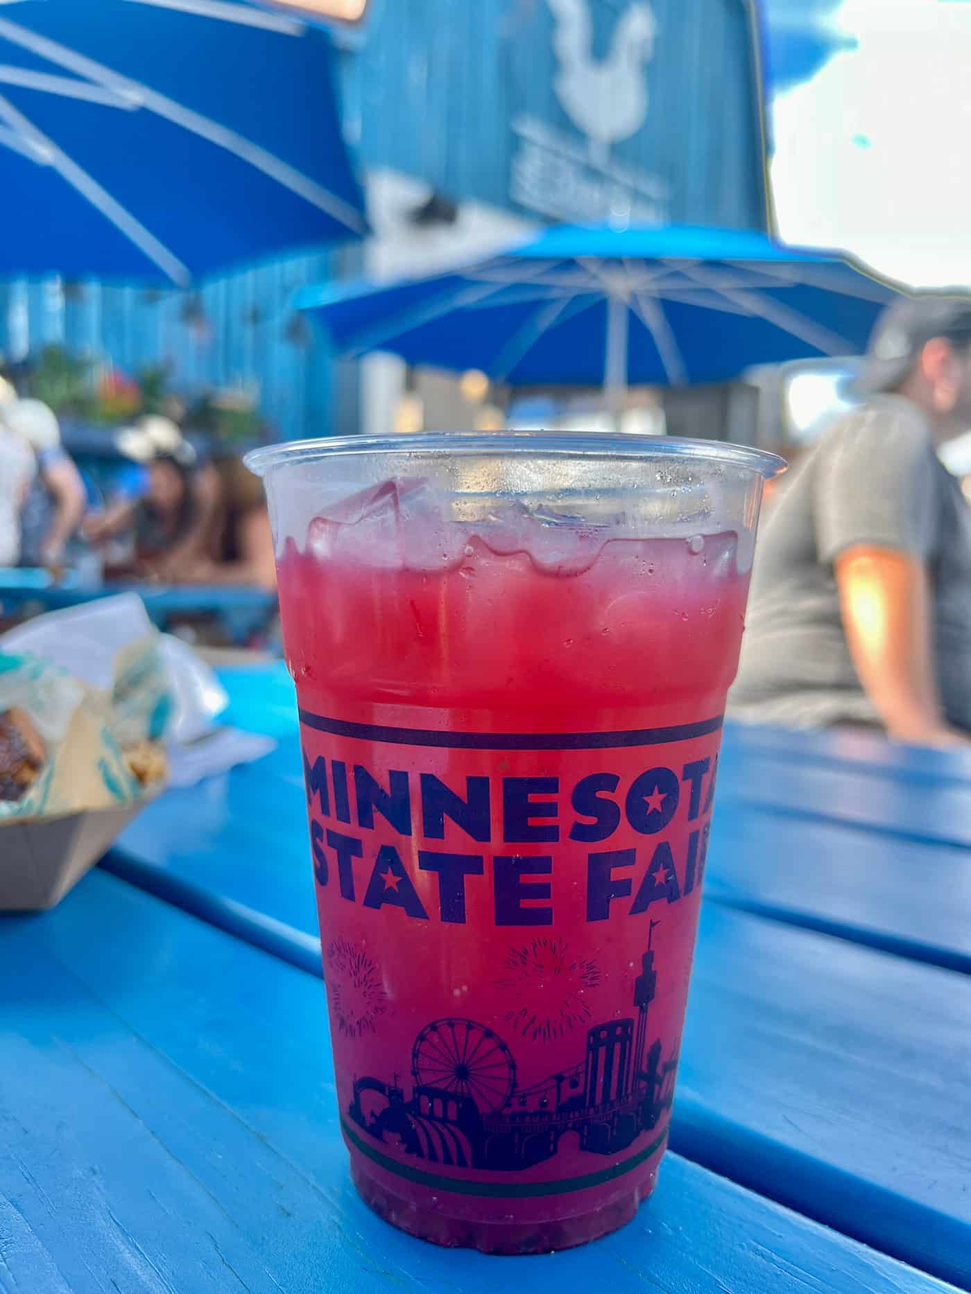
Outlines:
[[357, 1200], [309, 976], [92, 873], [0, 917], [4, 1294], [731, 1294], [948, 1286], [669, 1154], [607, 1240], [447, 1251]]

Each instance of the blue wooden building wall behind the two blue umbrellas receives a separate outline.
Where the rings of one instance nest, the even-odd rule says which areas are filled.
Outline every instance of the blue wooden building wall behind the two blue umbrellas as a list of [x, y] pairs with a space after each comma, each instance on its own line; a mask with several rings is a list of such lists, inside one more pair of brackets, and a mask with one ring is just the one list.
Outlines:
[[[584, 62], [610, 67], [620, 25], [646, 3], [570, 0], [590, 19], [581, 78]], [[361, 170], [394, 168], [454, 201], [537, 220], [765, 228], [750, 5], [650, 0], [643, 120], [606, 146], [557, 92], [563, 31], [554, 8], [373, 0], [365, 31], [339, 54], [346, 132]], [[356, 264], [355, 250], [289, 256], [210, 282], [195, 298], [57, 280], [0, 285], [0, 353], [21, 358], [57, 343], [127, 373], [164, 362], [179, 389], [252, 386], [280, 435], [320, 435], [338, 415], [337, 366], [316, 329], [293, 325], [289, 300], [295, 287]]]

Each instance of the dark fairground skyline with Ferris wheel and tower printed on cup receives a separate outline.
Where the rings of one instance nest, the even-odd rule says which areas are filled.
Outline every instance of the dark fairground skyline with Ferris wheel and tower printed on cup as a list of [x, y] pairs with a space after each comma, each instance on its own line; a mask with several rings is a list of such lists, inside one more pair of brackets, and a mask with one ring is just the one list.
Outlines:
[[594, 1154], [614, 1154], [656, 1127], [671, 1108], [677, 1056], [662, 1064], [650, 1047], [649, 1013], [658, 989], [654, 951], [634, 981], [637, 1017], [586, 1031], [585, 1055], [532, 1087], [519, 1087], [502, 1038], [474, 1020], [426, 1025], [412, 1048], [412, 1092], [359, 1078], [350, 1118], [377, 1141], [432, 1163], [463, 1168], [527, 1168], [552, 1158], [566, 1132]]

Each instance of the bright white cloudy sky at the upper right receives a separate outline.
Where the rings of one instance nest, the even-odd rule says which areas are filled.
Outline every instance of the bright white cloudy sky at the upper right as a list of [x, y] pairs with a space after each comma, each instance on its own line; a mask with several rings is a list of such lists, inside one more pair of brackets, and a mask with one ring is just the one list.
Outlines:
[[971, 0], [843, 0], [817, 21], [845, 48], [774, 100], [781, 237], [971, 286]]

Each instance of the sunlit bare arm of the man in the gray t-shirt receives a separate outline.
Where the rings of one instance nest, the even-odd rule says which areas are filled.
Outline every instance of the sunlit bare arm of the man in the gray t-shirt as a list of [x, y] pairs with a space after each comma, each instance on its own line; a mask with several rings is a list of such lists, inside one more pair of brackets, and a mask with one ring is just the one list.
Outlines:
[[836, 558], [835, 571], [849, 653], [887, 734], [921, 745], [965, 743], [941, 709], [924, 563], [896, 549], [854, 545]]

